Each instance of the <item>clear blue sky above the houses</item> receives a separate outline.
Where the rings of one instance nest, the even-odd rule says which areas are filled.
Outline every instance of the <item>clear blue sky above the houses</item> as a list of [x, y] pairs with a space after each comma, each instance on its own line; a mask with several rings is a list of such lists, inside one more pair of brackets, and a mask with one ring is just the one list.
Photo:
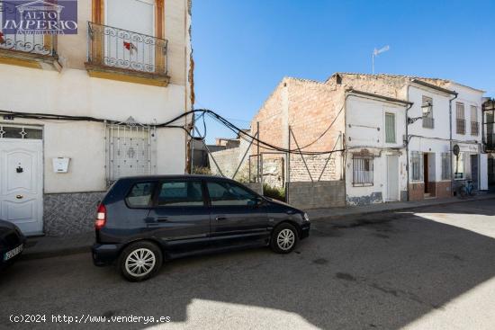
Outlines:
[[[248, 127], [284, 76], [442, 77], [495, 96], [495, 1], [194, 0], [198, 108]], [[208, 140], [229, 137], [209, 122]]]

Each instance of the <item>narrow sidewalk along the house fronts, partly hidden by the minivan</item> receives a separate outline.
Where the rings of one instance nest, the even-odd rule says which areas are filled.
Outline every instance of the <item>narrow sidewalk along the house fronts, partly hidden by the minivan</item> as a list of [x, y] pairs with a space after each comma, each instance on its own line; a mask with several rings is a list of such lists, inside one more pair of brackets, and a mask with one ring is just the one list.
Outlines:
[[[364, 214], [382, 213], [387, 211], [408, 210], [432, 205], [446, 205], [462, 203], [466, 201], [483, 201], [495, 199], [495, 194], [483, 194], [465, 200], [456, 197], [447, 199], [431, 199], [425, 201], [404, 201], [383, 204], [366, 205], [359, 207], [331, 208], [308, 210], [311, 221], [337, 221], [347, 216], [359, 216]], [[94, 243], [94, 232], [64, 236], [40, 236], [28, 238], [26, 248], [23, 252], [23, 260], [50, 258], [67, 254], [90, 253], [91, 245]]]

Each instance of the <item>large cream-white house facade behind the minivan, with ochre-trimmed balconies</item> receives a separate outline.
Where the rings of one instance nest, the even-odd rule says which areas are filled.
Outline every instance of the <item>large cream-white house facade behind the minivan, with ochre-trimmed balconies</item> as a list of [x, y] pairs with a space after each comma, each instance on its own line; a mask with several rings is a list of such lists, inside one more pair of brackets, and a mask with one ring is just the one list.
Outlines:
[[190, 2], [76, 4], [77, 34], [1, 35], [0, 219], [27, 235], [91, 230], [114, 180], [186, 168], [185, 130], [156, 125], [192, 109]]

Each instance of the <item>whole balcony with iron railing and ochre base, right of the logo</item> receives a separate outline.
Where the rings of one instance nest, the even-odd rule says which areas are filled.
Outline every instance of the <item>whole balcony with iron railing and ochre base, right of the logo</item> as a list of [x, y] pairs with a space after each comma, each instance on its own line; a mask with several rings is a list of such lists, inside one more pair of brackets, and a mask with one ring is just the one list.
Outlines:
[[88, 22], [85, 67], [90, 76], [145, 85], [168, 85], [167, 40]]

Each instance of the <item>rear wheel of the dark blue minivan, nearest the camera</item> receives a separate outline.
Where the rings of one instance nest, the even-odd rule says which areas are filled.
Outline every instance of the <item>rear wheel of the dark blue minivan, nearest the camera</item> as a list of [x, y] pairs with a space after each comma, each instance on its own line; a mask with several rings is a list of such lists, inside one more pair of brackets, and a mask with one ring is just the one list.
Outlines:
[[145, 281], [153, 277], [163, 263], [159, 247], [151, 242], [136, 242], [121, 253], [119, 265], [129, 281]]

